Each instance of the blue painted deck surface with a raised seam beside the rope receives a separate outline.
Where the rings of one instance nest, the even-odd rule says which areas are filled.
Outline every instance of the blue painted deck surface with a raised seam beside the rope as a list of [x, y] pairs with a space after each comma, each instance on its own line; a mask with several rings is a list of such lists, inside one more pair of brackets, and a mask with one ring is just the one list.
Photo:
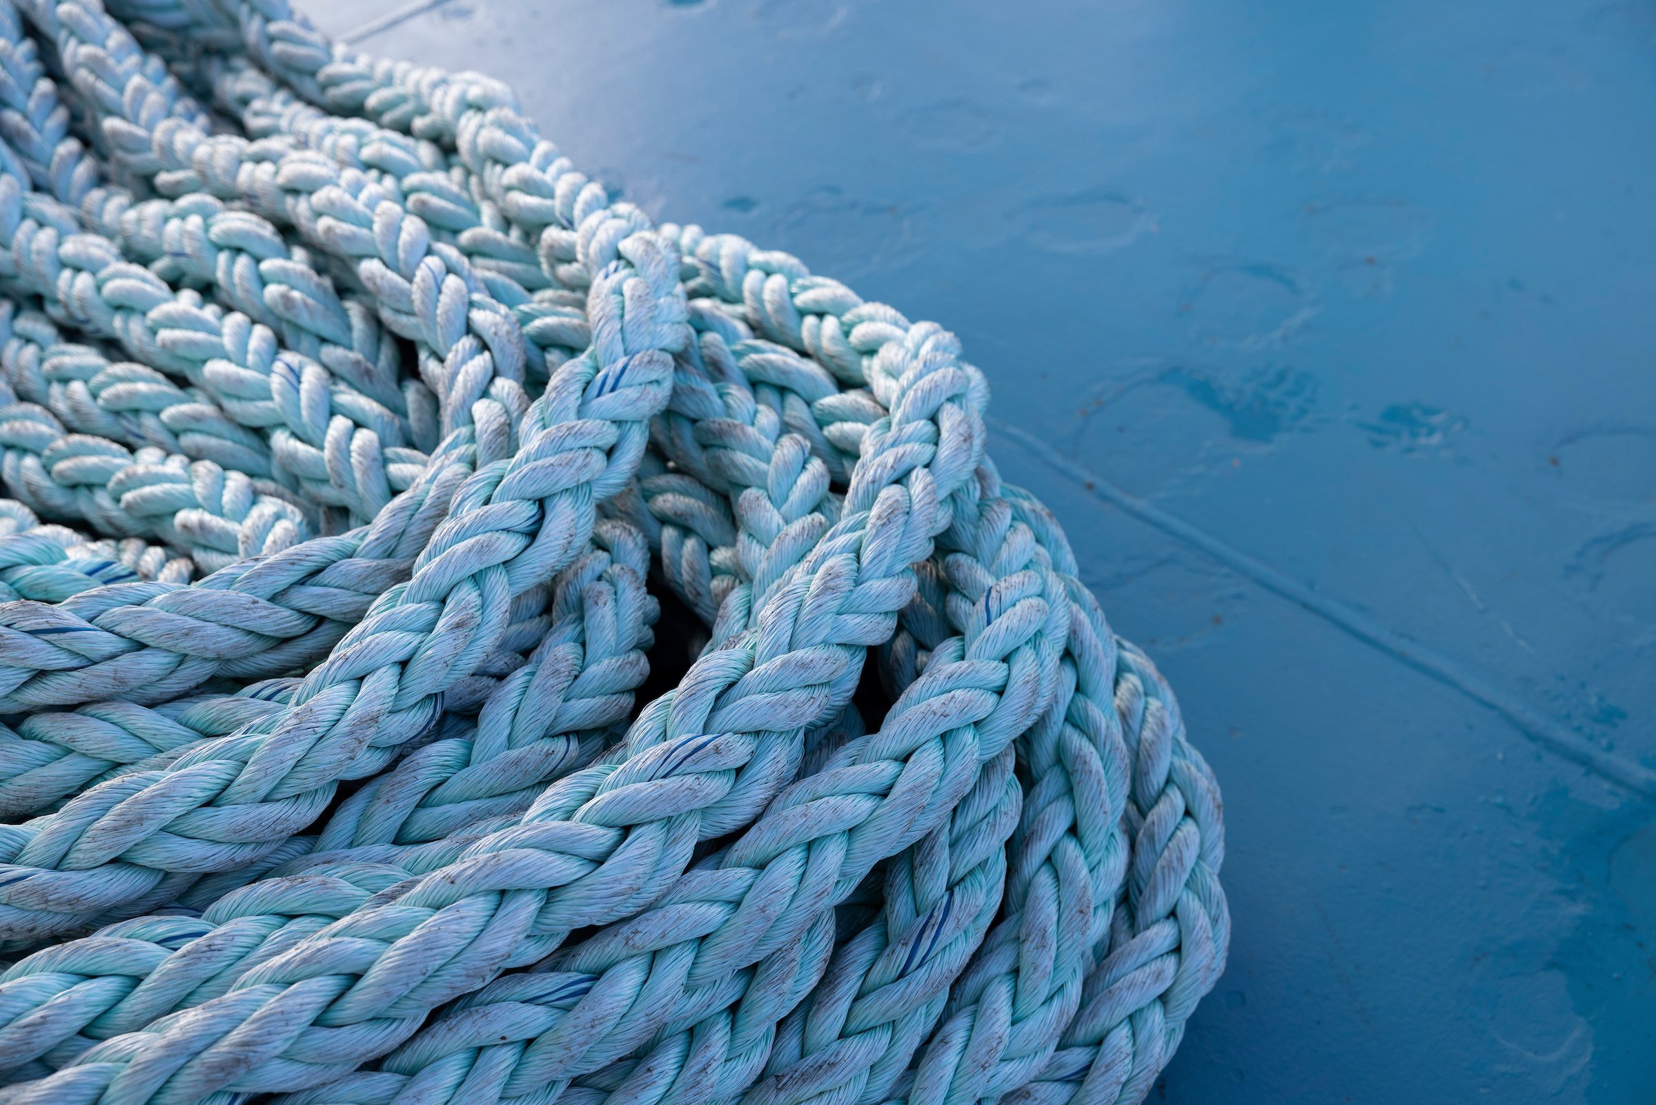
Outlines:
[[1656, 8], [305, 7], [962, 336], [1224, 785], [1153, 1100], [1656, 1100]]

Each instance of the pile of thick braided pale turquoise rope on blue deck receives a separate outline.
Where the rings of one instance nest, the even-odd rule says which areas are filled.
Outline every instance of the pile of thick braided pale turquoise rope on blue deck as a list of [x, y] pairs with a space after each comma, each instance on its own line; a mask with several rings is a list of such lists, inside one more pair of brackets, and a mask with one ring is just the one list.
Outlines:
[[1219, 792], [952, 335], [285, 0], [0, 0], [0, 1102], [1151, 1090]]

